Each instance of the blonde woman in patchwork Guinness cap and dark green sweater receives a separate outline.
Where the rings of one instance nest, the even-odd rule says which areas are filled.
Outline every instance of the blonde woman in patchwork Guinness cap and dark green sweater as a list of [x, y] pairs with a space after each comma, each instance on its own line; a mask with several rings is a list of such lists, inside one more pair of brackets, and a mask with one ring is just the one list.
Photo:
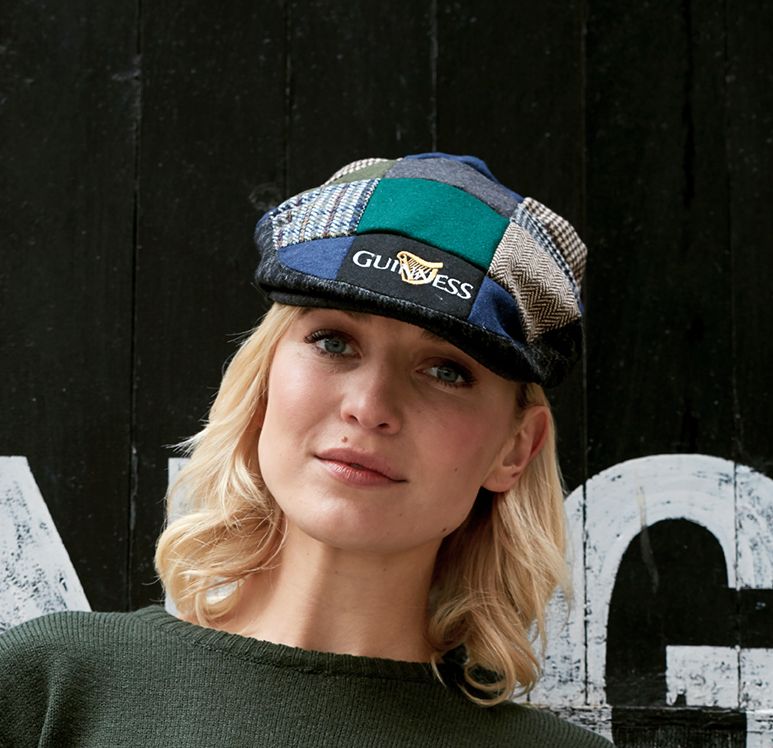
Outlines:
[[571, 226], [422, 154], [344, 167], [256, 241], [275, 303], [158, 544], [179, 617], [9, 632], [0, 742], [607, 745], [508, 700], [566, 579], [542, 385], [581, 345]]

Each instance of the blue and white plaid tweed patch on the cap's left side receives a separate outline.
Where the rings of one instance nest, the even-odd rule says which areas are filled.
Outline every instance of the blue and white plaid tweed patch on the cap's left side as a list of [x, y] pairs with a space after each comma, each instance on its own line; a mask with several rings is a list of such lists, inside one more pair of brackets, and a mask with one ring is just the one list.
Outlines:
[[275, 246], [353, 234], [377, 184], [366, 179], [328, 185], [282, 203], [273, 218]]

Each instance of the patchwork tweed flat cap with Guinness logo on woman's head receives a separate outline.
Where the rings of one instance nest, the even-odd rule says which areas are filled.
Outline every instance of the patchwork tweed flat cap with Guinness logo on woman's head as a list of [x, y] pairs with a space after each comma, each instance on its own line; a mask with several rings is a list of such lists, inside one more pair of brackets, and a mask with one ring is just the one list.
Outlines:
[[255, 242], [274, 301], [410, 322], [548, 387], [579, 358], [585, 245], [472, 156], [355, 161], [266, 213]]

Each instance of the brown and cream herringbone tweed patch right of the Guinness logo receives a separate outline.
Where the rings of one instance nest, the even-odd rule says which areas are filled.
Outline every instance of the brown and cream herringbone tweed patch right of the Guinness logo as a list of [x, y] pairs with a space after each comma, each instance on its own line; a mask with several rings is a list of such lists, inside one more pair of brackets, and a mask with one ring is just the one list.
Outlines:
[[518, 302], [526, 341], [580, 318], [580, 307], [565, 272], [534, 237], [511, 222], [488, 275]]

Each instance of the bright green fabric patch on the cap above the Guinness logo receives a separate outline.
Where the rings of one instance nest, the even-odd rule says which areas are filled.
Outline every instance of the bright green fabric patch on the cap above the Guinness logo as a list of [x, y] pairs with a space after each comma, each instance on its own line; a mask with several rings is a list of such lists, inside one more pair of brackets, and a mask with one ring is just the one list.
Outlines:
[[507, 218], [456, 187], [387, 178], [373, 191], [357, 233], [402, 234], [488, 270], [507, 225]]

